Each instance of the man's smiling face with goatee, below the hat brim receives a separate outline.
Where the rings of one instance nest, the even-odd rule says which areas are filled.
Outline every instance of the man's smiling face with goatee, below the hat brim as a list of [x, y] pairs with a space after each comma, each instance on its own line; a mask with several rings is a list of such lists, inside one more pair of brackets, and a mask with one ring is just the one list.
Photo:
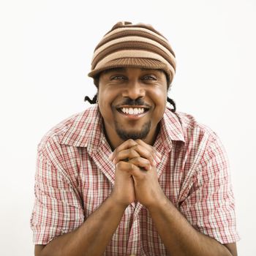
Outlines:
[[166, 107], [167, 80], [158, 69], [109, 69], [99, 77], [99, 110], [114, 148], [124, 140], [154, 143]]

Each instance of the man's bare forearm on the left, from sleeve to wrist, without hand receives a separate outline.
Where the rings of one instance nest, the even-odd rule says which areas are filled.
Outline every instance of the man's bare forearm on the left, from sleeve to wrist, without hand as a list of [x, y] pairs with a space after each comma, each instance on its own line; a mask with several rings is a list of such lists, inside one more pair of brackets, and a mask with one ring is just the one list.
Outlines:
[[46, 246], [36, 245], [35, 256], [102, 255], [126, 208], [115, 202], [115, 196], [110, 195], [78, 229], [54, 238]]

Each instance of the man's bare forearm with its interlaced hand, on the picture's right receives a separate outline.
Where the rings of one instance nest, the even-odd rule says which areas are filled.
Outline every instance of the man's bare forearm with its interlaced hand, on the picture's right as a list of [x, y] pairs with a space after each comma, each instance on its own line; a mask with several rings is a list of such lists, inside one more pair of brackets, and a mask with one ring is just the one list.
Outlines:
[[[155, 149], [142, 140], [130, 148], [137, 151], [140, 157], [129, 157], [129, 173], [135, 183], [136, 199], [148, 208], [159, 236], [170, 255], [193, 256], [236, 256], [236, 244], [222, 245], [214, 238], [195, 230], [187, 219], [176, 209], [173, 203], [167, 199], [157, 178], [157, 169], [153, 165], [145, 169], [145, 158], [156, 154]], [[116, 148], [113, 154], [113, 162], [124, 158], [121, 147]], [[141, 168], [144, 167], [144, 170]]]

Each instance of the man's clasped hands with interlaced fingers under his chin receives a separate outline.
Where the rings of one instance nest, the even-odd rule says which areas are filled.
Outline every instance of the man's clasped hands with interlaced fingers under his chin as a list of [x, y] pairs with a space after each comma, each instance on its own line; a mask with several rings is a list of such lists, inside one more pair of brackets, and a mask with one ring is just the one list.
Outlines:
[[112, 197], [128, 206], [139, 201], [146, 208], [157, 206], [165, 197], [157, 178], [161, 154], [143, 140], [129, 139], [118, 146], [110, 160], [116, 165]]

